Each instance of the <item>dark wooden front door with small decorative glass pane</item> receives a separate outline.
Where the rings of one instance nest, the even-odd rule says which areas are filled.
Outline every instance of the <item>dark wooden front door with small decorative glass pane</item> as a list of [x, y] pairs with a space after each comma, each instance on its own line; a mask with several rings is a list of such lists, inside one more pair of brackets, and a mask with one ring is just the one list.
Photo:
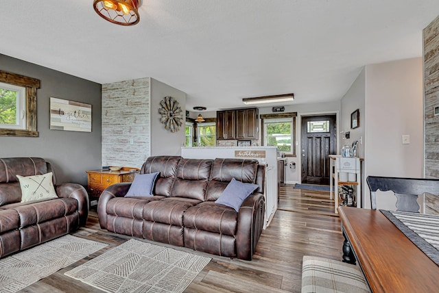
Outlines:
[[329, 155], [337, 153], [335, 115], [303, 116], [302, 183], [329, 185]]

